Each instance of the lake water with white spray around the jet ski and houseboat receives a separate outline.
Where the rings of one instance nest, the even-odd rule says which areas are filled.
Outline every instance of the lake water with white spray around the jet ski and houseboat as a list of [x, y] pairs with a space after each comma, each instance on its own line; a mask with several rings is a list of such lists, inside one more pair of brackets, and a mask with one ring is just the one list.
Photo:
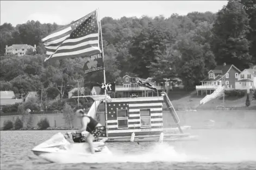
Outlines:
[[30, 150], [58, 132], [65, 131], [1, 131], [1, 169], [256, 169], [256, 129], [191, 130], [197, 141], [107, 143], [116, 155], [107, 164], [36, 159]]

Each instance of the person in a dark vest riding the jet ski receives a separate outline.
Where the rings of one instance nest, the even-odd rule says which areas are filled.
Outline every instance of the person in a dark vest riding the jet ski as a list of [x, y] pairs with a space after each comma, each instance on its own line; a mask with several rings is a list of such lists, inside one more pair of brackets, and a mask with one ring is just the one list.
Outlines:
[[94, 154], [93, 148], [93, 140], [96, 140], [101, 134], [103, 133], [104, 127], [101, 123], [97, 122], [91, 116], [87, 115], [83, 109], [78, 109], [76, 111], [76, 115], [80, 118], [82, 128], [73, 132], [72, 134], [79, 134], [82, 133], [84, 130], [89, 132], [88, 136], [86, 136], [86, 141], [89, 143], [91, 153]]

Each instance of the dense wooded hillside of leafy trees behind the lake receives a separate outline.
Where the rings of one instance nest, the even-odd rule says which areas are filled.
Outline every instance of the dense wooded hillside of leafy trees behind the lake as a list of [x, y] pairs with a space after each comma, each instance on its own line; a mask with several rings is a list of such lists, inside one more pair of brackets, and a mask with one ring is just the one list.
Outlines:
[[[186, 88], [193, 88], [217, 64], [242, 70], [256, 64], [256, 0], [229, 1], [216, 14], [104, 17], [101, 24], [107, 82], [121, 84], [126, 74], [158, 82], [178, 77]], [[39, 21], [0, 26], [1, 90], [13, 90], [20, 97], [28, 91], [41, 95], [43, 87], [47, 100], [59, 94], [59, 86], [67, 96], [78, 79], [89, 89], [103, 82], [103, 71], [83, 74], [83, 57], [43, 62], [46, 50], [41, 39], [62, 26]], [[36, 44], [36, 54], [3, 55], [5, 45], [12, 44]]]

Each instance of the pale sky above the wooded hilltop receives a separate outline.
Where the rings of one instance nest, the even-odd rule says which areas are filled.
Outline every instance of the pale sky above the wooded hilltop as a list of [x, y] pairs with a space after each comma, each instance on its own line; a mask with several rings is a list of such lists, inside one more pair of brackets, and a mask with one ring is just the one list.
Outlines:
[[34, 20], [40, 23], [68, 24], [95, 9], [99, 16], [121, 18], [186, 15], [192, 11], [217, 12], [228, 1], [2, 1], [0, 24], [14, 26]]

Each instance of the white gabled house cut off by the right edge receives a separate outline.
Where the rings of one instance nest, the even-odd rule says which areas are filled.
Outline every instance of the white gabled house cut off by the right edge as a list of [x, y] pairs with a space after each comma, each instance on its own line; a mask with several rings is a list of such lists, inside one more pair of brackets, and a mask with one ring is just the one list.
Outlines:
[[238, 75], [235, 89], [247, 90], [248, 92], [250, 89], [256, 89], [256, 69], [244, 69]]

